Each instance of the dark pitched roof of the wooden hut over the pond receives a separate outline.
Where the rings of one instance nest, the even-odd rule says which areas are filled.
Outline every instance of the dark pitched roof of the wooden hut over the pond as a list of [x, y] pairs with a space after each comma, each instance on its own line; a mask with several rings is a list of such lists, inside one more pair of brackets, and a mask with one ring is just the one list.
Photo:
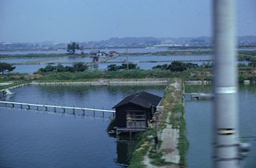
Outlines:
[[156, 96], [154, 94], [150, 94], [147, 92], [138, 92], [130, 96], [127, 96], [122, 101], [120, 101], [117, 105], [115, 105], [113, 108], [120, 107], [127, 103], [133, 103], [135, 105], [139, 105], [149, 109], [150, 105], [157, 106], [161, 99], [162, 99], [161, 97]]

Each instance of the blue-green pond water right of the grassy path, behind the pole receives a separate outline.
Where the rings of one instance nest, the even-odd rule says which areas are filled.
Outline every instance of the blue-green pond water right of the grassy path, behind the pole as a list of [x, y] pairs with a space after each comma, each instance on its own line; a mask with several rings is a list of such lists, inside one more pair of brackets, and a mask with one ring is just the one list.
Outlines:
[[[211, 92], [211, 86], [186, 86], [186, 92]], [[239, 87], [239, 131], [240, 136], [256, 136], [256, 85]], [[188, 167], [211, 167], [212, 160], [212, 100], [191, 101], [186, 98], [186, 128], [190, 147]], [[251, 143], [246, 167], [256, 166], [256, 138], [244, 138]]]

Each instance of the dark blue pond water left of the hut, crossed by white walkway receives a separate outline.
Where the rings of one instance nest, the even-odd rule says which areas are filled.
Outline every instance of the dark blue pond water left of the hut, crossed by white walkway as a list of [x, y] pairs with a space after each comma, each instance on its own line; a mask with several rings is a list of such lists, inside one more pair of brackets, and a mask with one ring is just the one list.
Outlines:
[[[1, 100], [111, 109], [142, 90], [162, 96], [164, 86], [27, 86]], [[134, 141], [109, 137], [109, 118], [96, 116], [0, 108], [0, 167], [122, 167]]]

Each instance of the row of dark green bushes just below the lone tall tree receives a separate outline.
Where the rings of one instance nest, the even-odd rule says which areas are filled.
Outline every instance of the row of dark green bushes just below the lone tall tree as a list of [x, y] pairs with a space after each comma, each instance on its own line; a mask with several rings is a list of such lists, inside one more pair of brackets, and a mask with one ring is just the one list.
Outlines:
[[83, 72], [88, 69], [88, 66], [83, 63], [73, 63], [73, 67], [66, 66], [64, 67], [63, 65], [47, 65], [45, 68], [40, 68], [37, 73], [41, 72]]

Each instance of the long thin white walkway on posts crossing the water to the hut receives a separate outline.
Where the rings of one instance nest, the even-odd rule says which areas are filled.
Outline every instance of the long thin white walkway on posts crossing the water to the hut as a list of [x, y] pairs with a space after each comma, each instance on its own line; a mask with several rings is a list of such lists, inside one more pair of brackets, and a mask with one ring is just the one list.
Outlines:
[[69, 107], [69, 106], [59, 106], [59, 105], [40, 105], [32, 103], [20, 103], [12, 101], [0, 101], [0, 107], [11, 107], [16, 109], [27, 109], [27, 110], [45, 110], [45, 111], [54, 111], [57, 112], [57, 109], [62, 109], [62, 113], [66, 113], [66, 110], [70, 109], [72, 114], [75, 115], [75, 111], [80, 110], [85, 115], [86, 110], [93, 111], [94, 117], [96, 112], [102, 112], [102, 117], [104, 118], [105, 112], [112, 113], [114, 116], [116, 110], [105, 110], [105, 109], [95, 109], [95, 108], [86, 108], [86, 107]]

